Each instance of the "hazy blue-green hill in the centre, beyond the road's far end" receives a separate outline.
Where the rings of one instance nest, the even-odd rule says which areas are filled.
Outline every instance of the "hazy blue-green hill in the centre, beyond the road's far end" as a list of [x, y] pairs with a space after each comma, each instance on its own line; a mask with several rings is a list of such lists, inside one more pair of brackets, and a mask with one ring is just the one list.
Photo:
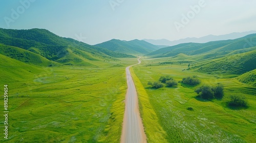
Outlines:
[[112, 39], [95, 46], [104, 47], [105, 49], [125, 54], [147, 54], [159, 49], [158, 46], [143, 40], [121, 41]]

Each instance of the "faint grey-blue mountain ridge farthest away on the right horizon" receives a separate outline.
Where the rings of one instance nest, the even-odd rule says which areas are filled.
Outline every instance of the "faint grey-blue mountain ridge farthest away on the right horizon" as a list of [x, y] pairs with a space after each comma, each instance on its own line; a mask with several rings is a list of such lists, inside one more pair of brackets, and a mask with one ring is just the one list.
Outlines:
[[[201, 38], [185, 38], [185, 39], [180, 39], [180, 40], [175, 40], [175, 41], [169, 41], [166, 39], [160, 39], [160, 40], [153, 40], [153, 39], [143, 39], [146, 42], [155, 44], [155, 45], [166, 45], [166, 46], [172, 46], [172, 45], [177, 45], [180, 43], [189, 43], [189, 42], [194, 42], [194, 43], [206, 43], [209, 41], [218, 41], [218, 40], [228, 40], [228, 39], [236, 39], [236, 38], [240, 38], [249, 34], [253, 34], [256, 33], [256, 31], [248, 31], [248, 32], [242, 32], [242, 33], [230, 33], [230, 34], [226, 34], [226, 35], [219, 35], [219, 36], [215, 36], [215, 35], [208, 35], [208, 36], [204, 36]], [[161, 46], [164, 47], [164, 46]]]

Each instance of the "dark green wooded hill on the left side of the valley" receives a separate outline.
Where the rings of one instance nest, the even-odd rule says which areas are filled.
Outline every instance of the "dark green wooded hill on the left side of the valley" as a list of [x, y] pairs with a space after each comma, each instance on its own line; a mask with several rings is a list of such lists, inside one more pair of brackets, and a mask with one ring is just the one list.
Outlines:
[[[20, 51], [17, 50], [17, 48], [19, 48], [26, 50], [22, 52], [23, 54], [27, 52], [25, 55], [29, 55], [33, 52], [48, 60], [72, 65], [94, 65], [90, 62], [133, 57], [131, 55], [115, 53], [101, 47], [78, 42], [71, 38], [62, 38], [45, 29], [0, 29], [0, 44], [2, 44], [2, 47], [9, 45], [9, 53], [10, 51]], [[20, 61], [26, 61], [25, 58], [19, 56], [19, 54], [7, 54], [6, 52], [2, 52], [1, 54]], [[27, 58], [28, 57], [29, 56], [27, 56]], [[38, 60], [34, 60], [33, 62], [36, 61]]]

